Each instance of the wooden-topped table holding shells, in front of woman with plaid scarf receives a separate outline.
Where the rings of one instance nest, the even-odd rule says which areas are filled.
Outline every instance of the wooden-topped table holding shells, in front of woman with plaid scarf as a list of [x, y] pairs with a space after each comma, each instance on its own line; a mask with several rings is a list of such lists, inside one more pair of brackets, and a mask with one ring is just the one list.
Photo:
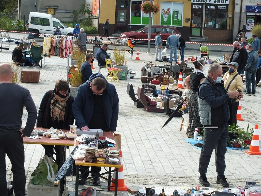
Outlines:
[[[36, 129], [36, 128], [35, 128]], [[41, 130], [49, 130], [49, 129], [42, 129], [42, 128], [37, 128]], [[60, 129], [61, 130], [61, 129]], [[62, 130], [62, 131], [69, 131], [69, 130]], [[74, 138], [65, 138], [65, 139], [60, 139], [60, 140], [51, 140], [50, 138], [45, 138], [43, 136], [41, 139], [31, 139], [28, 137], [24, 137], [24, 144], [41, 144], [41, 145], [56, 145], [59, 146], [59, 154], [60, 154], [60, 163], [56, 161], [56, 159], [52, 155], [48, 155], [51, 157], [55, 163], [57, 163], [58, 167], [62, 167], [63, 163], [65, 162], [65, 146], [74, 146]], [[44, 147], [44, 146], [43, 146]], [[64, 186], [66, 183], [65, 177], [61, 180], [60, 186], [61, 186], [61, 195], [64, 190]]]

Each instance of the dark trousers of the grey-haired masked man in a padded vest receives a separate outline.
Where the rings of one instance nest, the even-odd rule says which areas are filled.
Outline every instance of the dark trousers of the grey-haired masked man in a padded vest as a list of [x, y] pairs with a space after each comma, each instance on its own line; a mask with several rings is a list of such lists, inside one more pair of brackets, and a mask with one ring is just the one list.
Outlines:
[[206, 174], [211, 154], [215, 148], [217, 175], [224, 175], [226, 169], [225, 153], [227, 152], [228, 122], [223, 121], [223, 127], [204, 129], [204, 143], [199, 156], [199, 173]]

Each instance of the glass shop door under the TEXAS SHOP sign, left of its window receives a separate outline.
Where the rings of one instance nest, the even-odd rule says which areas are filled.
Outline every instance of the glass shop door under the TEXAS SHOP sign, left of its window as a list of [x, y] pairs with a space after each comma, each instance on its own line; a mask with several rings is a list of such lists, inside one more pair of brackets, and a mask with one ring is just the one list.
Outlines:
[[202, 37], [203, 4], [192, 4], [190, 21], [191, 37]]

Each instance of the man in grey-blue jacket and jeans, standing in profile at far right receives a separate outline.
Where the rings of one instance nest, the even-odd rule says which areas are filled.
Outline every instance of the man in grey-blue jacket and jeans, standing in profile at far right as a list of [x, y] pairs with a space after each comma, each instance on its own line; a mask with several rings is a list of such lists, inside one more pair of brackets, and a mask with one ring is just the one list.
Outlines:
[[[255, 96], [255, 74], [256, 74], [256, 67], [259, 61], [258, 53], [253, 49], [252, 45], [247, 45], [248, 52], [248, 61], [244, 68], [246, 71], [246, 87], [247, 92], [245, 95], [254, 95]], [[252, 83], [252, 92], [251, 92], [251, 83]]]

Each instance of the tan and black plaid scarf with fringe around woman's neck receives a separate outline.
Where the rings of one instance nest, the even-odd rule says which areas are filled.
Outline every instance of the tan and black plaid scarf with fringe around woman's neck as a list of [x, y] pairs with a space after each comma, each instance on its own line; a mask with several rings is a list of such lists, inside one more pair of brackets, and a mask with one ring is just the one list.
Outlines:
[[64, 121], [65, 104], [69, 99], [70, 94], [66, 98], [61, 98], [59, 95], [54, 93], [51, 100], [51, 118], [53, 120]]

